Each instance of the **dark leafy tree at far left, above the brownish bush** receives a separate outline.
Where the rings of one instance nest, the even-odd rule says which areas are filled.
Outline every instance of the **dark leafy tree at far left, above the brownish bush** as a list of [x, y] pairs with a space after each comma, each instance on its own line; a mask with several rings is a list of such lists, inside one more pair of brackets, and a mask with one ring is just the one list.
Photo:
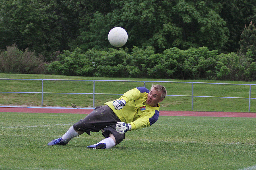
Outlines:
[[61, 42], [55, 39], [56, 36], [61, 37], [61, 33], [57, 31], [59, 28], [55, 25], [57, 18], [48, 13], [47, 3], [30, 0], [3, 0], [0, 3], [1, 28], [12, 33], [0, 37], [1, 40], [9, 40], [1, 44], [1, 48], [16, 43], [19, 48], [29, 48], [35, 52], [60, 50], [57, 47]]

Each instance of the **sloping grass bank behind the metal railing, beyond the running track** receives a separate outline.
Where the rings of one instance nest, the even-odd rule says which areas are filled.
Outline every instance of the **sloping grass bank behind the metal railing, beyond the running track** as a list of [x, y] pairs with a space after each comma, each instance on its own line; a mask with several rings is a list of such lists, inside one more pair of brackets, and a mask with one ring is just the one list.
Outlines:
[[[25, 75], [3, 74], [0, 78], [27, 78], [27, 79], [73, 79], [73, 80], [143, 80], [143, 81], [182, 81], [182, 82], [214, 82], [233, 84], [255, 84], [255, 82], [238, 81], [206, 81], [206, 80], [171, 80], [171, 79], [135, 79], [135, 78], [104, 78], [104, 77], [78, 77], [57, 75]], [[146, 82], [150, 88], [151, 82]], [[155, 83], [157, 84], [157, 83]], [[166, 87], [169, 95], [191, 95], [191, 83], [158, 83]], [[124, 92], [144, 86], [143, 82], [95, 82], [95, 93]], [[249, 97], [248, 85], [216, 85], [194, 84], [194, 96], [221, 96], [221, 97]], [[0, 91], [3, 92], [41, 92], [41, 80], [0, 80]], [[93, 93], [92, 81], [44, 81], [44, 92], [63, 93]], [[0, 93], [0, 105], [11, 106], [41, 106], [41, 94], [11, 94]], [[95, 95], [95, 107], [119, 98], [120, 95]], [[256, 86], [251, 86], [251, 97], [256, 98]], [[43, 106], [71, 107], [71, 103], [79, 107], [93, 107], [91, 94], [44, 94]], [[191, 97], [167, 96], [160, 103], [161, 110], [191, 111]], [[247, 112], [249, 99], [208, 98], [194, 97], [193, 111], [230, 111]], [[256, 112], [256, 100], [251, 99], [251, 112]]]

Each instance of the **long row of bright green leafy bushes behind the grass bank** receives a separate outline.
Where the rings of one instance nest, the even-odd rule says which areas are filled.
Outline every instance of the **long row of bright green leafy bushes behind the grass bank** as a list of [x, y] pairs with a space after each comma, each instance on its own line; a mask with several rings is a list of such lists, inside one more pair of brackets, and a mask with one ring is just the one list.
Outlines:
[[109, 48], [83, 52], [76, 48], [64, 51], [57, 61], [48, 64], [53, 74], [72, 76], [171, 78], [204, 80], [256, 79], [256, 64], [249, 49], [246, 55], [237, 53], [218, 54], [207, 47], [180, 50], [176, 47], [155, 54], [152, 47], [141, 49]]

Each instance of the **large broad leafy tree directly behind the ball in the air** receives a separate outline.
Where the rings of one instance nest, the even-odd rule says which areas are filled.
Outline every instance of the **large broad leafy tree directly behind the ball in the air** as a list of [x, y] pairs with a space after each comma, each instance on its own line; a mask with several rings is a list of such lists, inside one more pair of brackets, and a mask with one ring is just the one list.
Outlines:
[[[97, 12], [82, 31], [81, 47], [111, 47], [107, 34], [120, 26], [128, 32], [127, 48], [153, 46], [156, 52], [176, 46], [180, 49], [207, 46], [221, 50], [228, 40], [226, 22], [218, 15], [219, 3], [205, 1], [112, 0], [113, 11]], [[84, 26], [85, 27], [85, 26]], [[85, 44], [85, 45], [84, 45]]]

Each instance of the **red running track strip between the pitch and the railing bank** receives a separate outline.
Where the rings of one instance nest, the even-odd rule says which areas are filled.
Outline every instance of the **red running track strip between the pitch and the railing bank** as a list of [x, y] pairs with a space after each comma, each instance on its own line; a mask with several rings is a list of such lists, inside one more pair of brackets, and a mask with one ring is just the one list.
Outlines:
[[[89, 114], [93, 109], [44, 108], [44, 107], [0, 107], [0, 112], [20, 113], [73, 113]], [[202, 111], [160, 111], [160, 116], [213, 116], [256, 118], [252, 112], [202, 112]]]

